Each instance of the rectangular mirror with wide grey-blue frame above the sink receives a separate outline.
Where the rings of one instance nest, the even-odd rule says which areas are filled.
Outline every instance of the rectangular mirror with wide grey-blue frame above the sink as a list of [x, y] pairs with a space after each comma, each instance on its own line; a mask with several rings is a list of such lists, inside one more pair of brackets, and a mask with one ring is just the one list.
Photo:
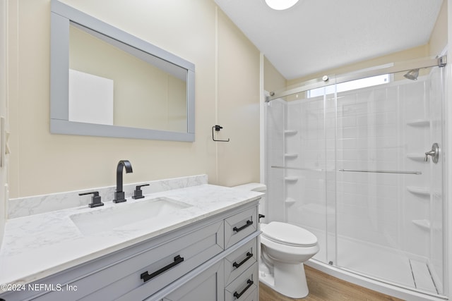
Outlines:
[[50, 132], [194, 141], [194, 64], [51, 3]]

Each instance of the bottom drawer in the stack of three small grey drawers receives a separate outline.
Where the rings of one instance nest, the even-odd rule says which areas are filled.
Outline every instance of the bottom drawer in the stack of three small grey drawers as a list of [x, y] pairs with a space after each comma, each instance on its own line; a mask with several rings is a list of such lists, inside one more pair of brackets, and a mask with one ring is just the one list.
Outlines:
[[257, 290], [258, 281], [258, 264], [255, 262], [226, 286], [225, 301], [248, 300], [247, 298], [254, 293], [254, 290]]

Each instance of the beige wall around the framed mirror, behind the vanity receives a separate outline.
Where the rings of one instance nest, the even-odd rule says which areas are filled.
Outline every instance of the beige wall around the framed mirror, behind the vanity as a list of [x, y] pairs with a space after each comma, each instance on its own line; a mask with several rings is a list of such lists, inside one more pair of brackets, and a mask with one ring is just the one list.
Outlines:
[[[259, 180], [259, 52], [211, 0], [64, 0], [196, 66], [196, 141], [49, 133], [49, 0], [11, 0], [10, 197], [207, 173], [210, 183]], [[230, 143], [213, 142], [211, 128]], [[220, 137], [220, 136], [219, 136]]]

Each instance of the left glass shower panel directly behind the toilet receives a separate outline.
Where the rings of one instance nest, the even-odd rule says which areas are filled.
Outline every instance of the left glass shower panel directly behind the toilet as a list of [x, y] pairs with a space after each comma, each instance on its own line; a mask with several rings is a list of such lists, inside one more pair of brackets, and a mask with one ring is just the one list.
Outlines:
[[327, 204], [334, 189], [327, 186], [331, 183], [328, 176], [335, 176], [335, 166], [326, 160], [328, 143], [334, 152], [333, 94], [307, 97], [301, 92], [275, 99], [265, 108], [268, 220], [314, 233], [320, 245], [314, 258], [328, 262], [328, 246], [335, 245], [334, 240], [331, 244], [327, 240], [328, 216], [334, 216]]

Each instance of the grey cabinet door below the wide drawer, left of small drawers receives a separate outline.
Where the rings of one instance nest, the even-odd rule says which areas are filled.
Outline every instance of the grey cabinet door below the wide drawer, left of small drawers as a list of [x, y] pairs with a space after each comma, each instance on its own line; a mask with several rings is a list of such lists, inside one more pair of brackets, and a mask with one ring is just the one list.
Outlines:
[[164, 301], [224, 301], [223, 261], [169, 293]]

